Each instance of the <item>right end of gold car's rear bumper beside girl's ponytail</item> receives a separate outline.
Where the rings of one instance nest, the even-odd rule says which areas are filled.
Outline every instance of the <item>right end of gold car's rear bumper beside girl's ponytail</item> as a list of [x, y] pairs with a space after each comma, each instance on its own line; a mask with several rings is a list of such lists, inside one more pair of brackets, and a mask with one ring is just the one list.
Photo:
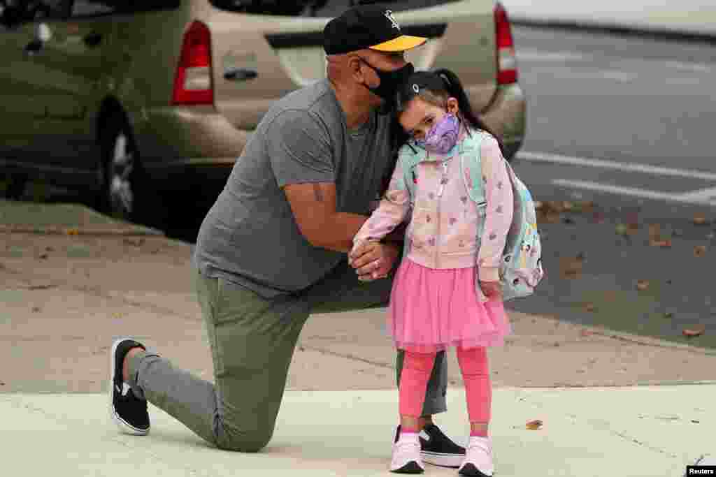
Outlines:
[[505, 158], [522, 147], [527, 125], [527, 99], [518, 83], [498, 87], [493, 101], [481, 114], [485, 124], [502, 138]]

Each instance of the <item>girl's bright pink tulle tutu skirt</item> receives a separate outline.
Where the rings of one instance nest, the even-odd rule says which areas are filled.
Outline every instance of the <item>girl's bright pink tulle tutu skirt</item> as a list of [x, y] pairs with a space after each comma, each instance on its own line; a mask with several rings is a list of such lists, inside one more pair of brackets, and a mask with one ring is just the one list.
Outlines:
[[393, 281], [388, 330], [401, 350], [500, 346], [512, 333], [502, 300], [481, 303], [475, 269], [432, 269], [403, 260]]

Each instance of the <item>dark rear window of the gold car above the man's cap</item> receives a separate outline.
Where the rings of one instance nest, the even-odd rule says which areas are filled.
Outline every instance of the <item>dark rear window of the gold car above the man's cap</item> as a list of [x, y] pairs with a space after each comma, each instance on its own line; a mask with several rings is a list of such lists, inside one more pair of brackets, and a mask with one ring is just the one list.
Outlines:
[[458, 0], [209, 0], [218, 9], [240, 13], [284, 16], [324, 16], [342, 14], [358, 4], [382, 4], [392, 11], [424, 9]]

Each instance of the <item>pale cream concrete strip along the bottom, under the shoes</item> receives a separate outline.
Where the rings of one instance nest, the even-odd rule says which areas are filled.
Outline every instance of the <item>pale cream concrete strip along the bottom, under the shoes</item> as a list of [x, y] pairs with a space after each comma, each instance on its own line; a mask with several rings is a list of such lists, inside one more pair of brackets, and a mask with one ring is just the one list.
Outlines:
[[[440, 426], [463, 442], [463, 390]], [[713, 445], [716, 385], [495, 390], [496, 475], [675, 477]], [[394, 390], [289, 392], [261, 453], [218, 451], [151, 407], [149, 436], [117, 433], [107, 396], [0, 395], [6, 475], [389, 476]], [[525, 423], [543, 421], [538, 431]], [[713, 448], [710, 449], [713, 451]], [[456, 475], [427, 466], [426, 475]]]

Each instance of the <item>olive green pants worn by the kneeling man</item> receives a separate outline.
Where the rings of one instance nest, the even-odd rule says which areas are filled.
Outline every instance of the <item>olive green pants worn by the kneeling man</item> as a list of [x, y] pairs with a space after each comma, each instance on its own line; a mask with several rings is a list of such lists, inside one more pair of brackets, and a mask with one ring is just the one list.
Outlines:
[[[392, 275], [360, 282], [344, 261], [306, 292], [265, 300], [221, 278], [194, 274], [216, 384], [147, 350], [130, 360], [130, 385], [206, 441], [243, 452], [259, 451], [271, 440], [294, 348], [309, 315], [385, 306], [392, 284]], [[402, 354], [397, 354], [398, 383]], [[446, 388], [445, 353], [439, 353], [424, 415], [445, 411]]]

